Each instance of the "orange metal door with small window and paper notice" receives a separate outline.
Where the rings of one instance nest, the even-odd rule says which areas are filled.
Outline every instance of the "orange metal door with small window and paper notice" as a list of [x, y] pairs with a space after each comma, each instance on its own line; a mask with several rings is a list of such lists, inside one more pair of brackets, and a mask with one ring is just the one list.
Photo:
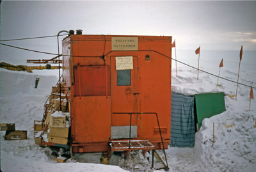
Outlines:
[[[120, 63], [122, 63], [120, 65]], [[129, 138], [129, 114], [138, 111], [138, 57], [111, 56], [111, 138]], [[137, 115], [132, 114], [131, 137], [137, 137]]]

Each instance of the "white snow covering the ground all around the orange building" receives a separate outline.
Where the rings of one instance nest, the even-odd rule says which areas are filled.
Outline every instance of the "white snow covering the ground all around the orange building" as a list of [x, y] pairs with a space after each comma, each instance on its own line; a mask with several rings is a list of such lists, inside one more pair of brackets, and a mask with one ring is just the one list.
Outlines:
[[[256, 86], [256, 52], [244, 51], [241, 61], [239, 82]], [[218, 75], [221, 59], [223, 68], [220, 76], [237, 81], [239, 51], [201, 51], [200, 68]], [[197, 66], [195, 51], [177, 50], [177, 59]], [[12, 61], [6, 61], [12, 63]], [[184, 95], [196, 93], [224, 92], [236, 95], [236, 83], [219, 80], [188, 66], [172, 61], [172, 91]], [[40, 78], [35, 88], [35, 79]], [[4, 140], [1, 131], [2, 171], [152, 171], [151, 155], [145, 157], [141, 151], [131, 152], [124, 159], [122, 153], [112, 155], [111, 165], [100, 164], [101, 153], [79, 153], [75, 159], [65, 163], [56, 162], [50, 148], [41, 148], [34, 143], [34, 120], [42, 120], [44, 103], [58, 81], [58, 70], [33, 70], [33, 73], [16, 72], [0, 68], [1, 123], [15, 123], [17, 130], [28, 130], [28, 139]], [[256, 90], [254, 91], [254, 95]], [[166, 150], [169, 171], [255, 171], [256, 168], [256, 105], [251, 102], [250, 88], [238, 86], [237, 100], [225, 96], [226, 111], [206, 118], [196, 132], [195, 148], [172, 148]], [[214, 143], [213, 141], [214, 123]], [[47, 137], [45, 134], [44, 137]], [[164, 157], [163, 150], [157, 150]], [[148, 157], [149, 161], [148, 162]], [[156, 161], [155, 161], [156, 162]], [[119, 167], [118, 167], [119, 166]], [[160, 166], [155, 164], [155, 167]], [[156, 171], [156, 170], [153, 170]], [[162, 170], [163, 171], [163, 170]]]

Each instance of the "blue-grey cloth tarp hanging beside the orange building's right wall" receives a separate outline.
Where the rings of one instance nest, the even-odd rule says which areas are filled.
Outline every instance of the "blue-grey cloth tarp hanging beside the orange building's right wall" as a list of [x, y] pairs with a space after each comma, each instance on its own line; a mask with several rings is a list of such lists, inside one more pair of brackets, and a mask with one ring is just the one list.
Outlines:
[[195, 145], [194, 98], [172, 93], [170, 146], [193, 147]]

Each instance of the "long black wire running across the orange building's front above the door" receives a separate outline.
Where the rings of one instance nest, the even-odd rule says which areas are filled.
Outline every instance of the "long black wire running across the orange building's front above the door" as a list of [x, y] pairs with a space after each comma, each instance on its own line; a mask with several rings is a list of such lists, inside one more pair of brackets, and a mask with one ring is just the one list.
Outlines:
[[[8, 46], [8, 47], [13, 47], [13, 48], [16, 48], [16, 49], [22, 49], [22, 50], [25, 50], [25, 51], [32, 51], [32, 52], [38, 52], [38, 53], [43, 53], [43, 54], [51, 54], [51, 55], [55, 55], [55, 56], [57, 56], [58, 57], [58, 55], [59, 54], [56, 54], [56, 53], [51, 53], [51, 52], [42, 52], [42, 51], [35, 51], [35, 50], [31, 50], [31, 49], [24, 49], [24, 48], [22, 48], [22, 47], [16, 47], [16, 46], [13, 46], [13, 45], [8, 45], [8, 44], [5, 44], [5, 43], [0, 43], [0, 45], [5, 45], [5, 46]], [[104, 45], [105, 46], [105, 45]], [[198, 69], [198, 68], [196, 68], [196, 67], [194, 67], [194, 66], [191, 66], [191, 65], [188, 65], [188, 64], [186, 64], [186, 63], [184, 63], [184, 62], [182, 62], [182, 61], [179, 61], [179, 60], [177, 60], [177, 59], [173, 59], [173, 58], [171, 58], [170, 56], [166, 56], [165, 54], [163, 54], [163, 53], [161, 53], [161, 52], [158, 52], [158, 51], [154, 51], [154, 50], [140, 50], [140, 51], [152, 51], [152, 52], [156, 52], [157, 54], [160, 54], [161, 56], [164, 56], [164, 57], [166, 57], [166, 58], [170, 58], [170, 59], [172, 59], [172, 60], [174, 60], [174, 61], [177, 61], [177, 62], [179, 62], [179, 63], [181, 63], [181, 64], [183, 64], [183, 65], [186, 65], [186, 66], [189, 66], [189, 67], [191, 67], [191, 68], [194, 68], [194, 69], [196, 69], [196, 70], [199, 70], [199, 71], [201, 71], [201, 72], [204, 72], [205, 74], [209, 74], [209, 75], [212, 75], [212, 76], [214, 76], [214, 77], [219, 77], [218, 75], [215, 75], [215, 74], [211, 74], [210, 72], [207, 72], [207, 71], [205, 71], [205, 70], [202, 70], [202, 69]], [[116, 52], [116, 51], [109, 51], [108, 53], [106, 53], [106, 54], [103, 54], [103, 56], [107, 56], [108, 54], [110, 54], [111, 52]], [[62, 56], [71, 56], [71, 55], [67, 55], [67, 54], [62, 54]], [[78, 57], [78, 58], [102, 58], [102, 56], [74, 56], [74, 55], [72, 55], [73, 57]], [[57, 58], [56, 57], [56, 58]], [[249, 86], [249, 85], [246, 85], [246, 84], [242, 84], [242, 83], [240, 83], [240, 82], [236, 82], [236, 81], [232, 81], [232, 80], [230, 80], [230, 79], [227, 79], [227, 78], [225, 78], [225, 77], [219, 77], [220, 79], [223, 79], [223, 80], [226, 80], [226, 81], [230, 81], [230, 82], [234, 82], [234, 83], [238, 83], [238, 84], [240, 84], [240, 85], [243, 85], [243, 86], [247, 86], [247, 87], [252, 87], [253, 89], [256, 89], [256, 87], [253, 87], [253, 86]]]

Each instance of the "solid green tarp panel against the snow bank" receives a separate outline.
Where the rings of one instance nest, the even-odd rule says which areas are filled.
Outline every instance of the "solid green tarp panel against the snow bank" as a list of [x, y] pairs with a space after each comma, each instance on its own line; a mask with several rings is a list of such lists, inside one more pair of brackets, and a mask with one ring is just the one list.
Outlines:
[[195, 95], [198, 129], [204, 118], [226, 111], [224, 93], [204, 93]]

